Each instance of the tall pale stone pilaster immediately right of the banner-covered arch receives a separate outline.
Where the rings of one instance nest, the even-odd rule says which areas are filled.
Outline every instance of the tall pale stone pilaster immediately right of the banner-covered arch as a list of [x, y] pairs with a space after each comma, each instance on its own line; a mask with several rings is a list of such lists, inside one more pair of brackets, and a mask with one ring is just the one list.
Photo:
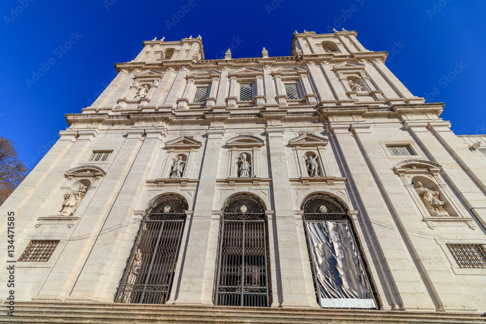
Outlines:
[[[356, 198], [359, 200], [358, 204], [362, 206], [361, 214], [364, 222], [369, 224], [369, 244], [378, 258], [375, 266], [381, 268], [384, 276], [382, 280], [388, 290], [383, 293], [388, 293], [390, 296], [388, 303], [391, 305], [383, 305], [383, 307], [435, 310], [434, 302], [400, 235], [401, 231], [386, 208], [382, 193], [363, 158], [362, 151], [357, 147], [355, 138], [349, 133], [349, 126], [348, 123], [330, 122], [331, 132], [337, 140], [347, 165], [349, 181], [357, 190]], [[368, 260], [368, 263], [371, 264], [371, 260]], [[375, 288], [382, 289], [377, 280], [378, 278], [374, 280]]]

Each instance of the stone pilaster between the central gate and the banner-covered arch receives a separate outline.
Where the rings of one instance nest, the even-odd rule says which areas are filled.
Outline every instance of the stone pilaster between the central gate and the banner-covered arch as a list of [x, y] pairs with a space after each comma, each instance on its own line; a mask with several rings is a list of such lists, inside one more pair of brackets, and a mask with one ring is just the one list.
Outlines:
[[[267, 120], [268, 118], [273, 118], [273, 116], [267, 116]], [[278, 252], [275, 253], [276, 270], [272, 276], [279, 278], [281, 283], [278, 300], [274, 299], [272, 306], [280, 304], [281, 307], [311, 307], [315, 306], [315, 292], [306, 290], [305, 269], [300, 255], [298, 228], [295, 225], [294, 198], [290, 188], [283, 132], [284, 128], [281, 126], [267, 126], [265, 129], [270, 151], [275, 206], [275, 219], [273, 222], [269, 222], [268, 230], [273, 231], [274, 242], [270, 242], [271, 248], [272, 245], [275, 246], [275, 243], [278, 246]], [[278, 289], [278, 287], [273, 287], [273, 289]], [[310, 296], [313, 296], [313, 302]]]

